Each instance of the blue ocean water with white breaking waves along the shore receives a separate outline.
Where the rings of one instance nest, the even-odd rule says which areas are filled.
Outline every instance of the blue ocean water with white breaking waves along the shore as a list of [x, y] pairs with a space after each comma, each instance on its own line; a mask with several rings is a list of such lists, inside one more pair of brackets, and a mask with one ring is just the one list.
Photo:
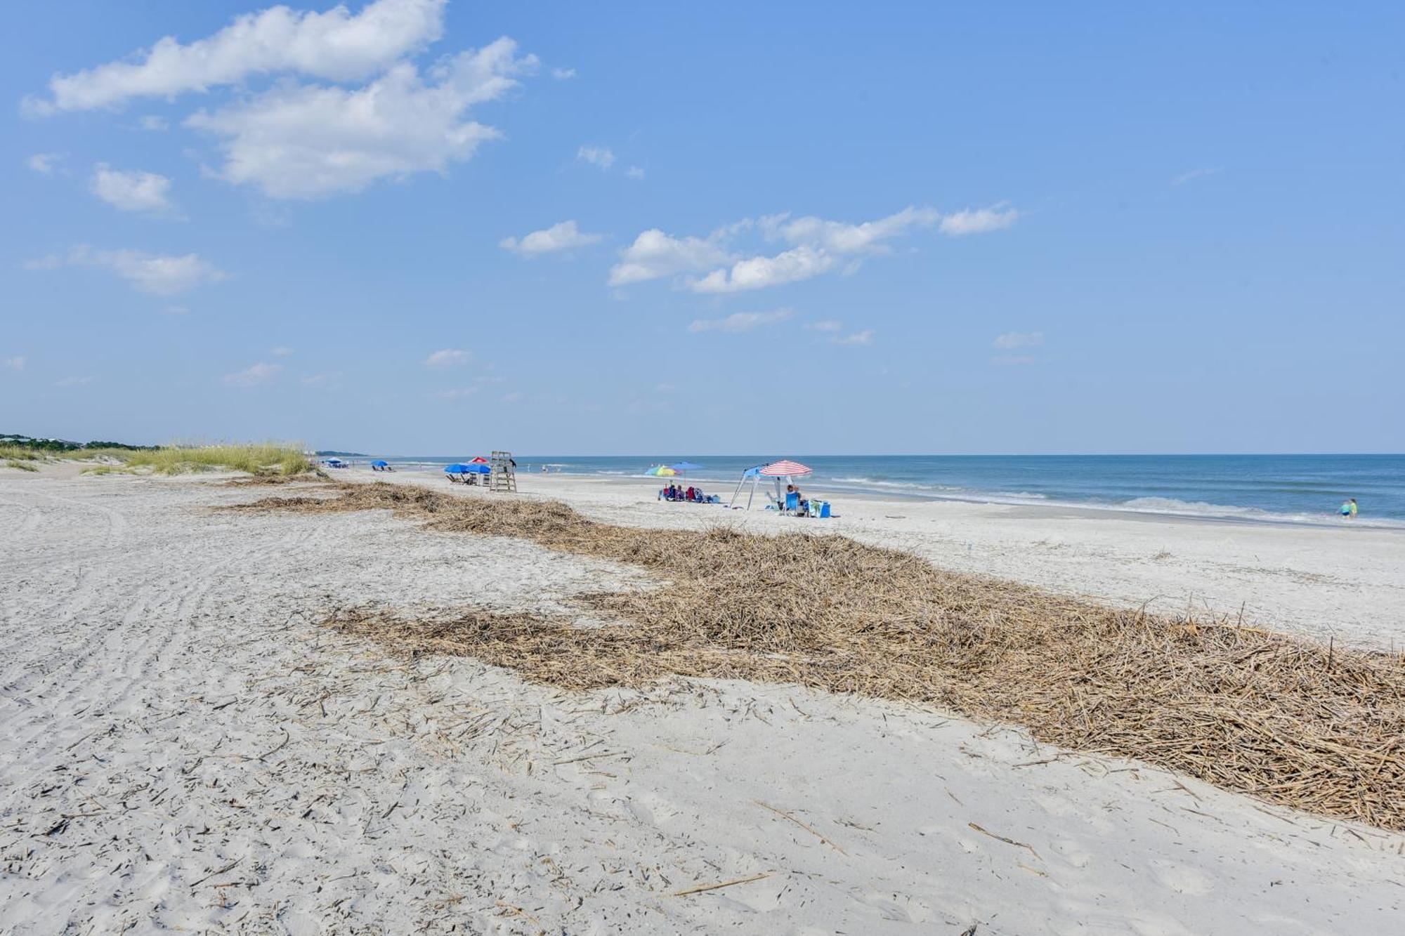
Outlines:
[[[643, 476], [687, 460], [708, 493], [729, 498], [740, 472], [774, 458], [815, 469], [806, 490], [902, 498], [1037, 503], [1264, 523], [1343, 523], [1405, 528], [1405, 455], [517, 455], [518, 471]], [[402, 469], [440, 471], [472, 455], [399, 457]], [[660, 482], [662, 483], [662, 482]]]

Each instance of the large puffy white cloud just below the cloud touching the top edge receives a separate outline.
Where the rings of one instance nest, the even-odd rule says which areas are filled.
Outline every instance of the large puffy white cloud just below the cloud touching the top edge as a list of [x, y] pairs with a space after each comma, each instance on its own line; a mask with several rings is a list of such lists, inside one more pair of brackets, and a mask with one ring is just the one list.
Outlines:
[[358, 90], [282, 84], [185, 124], [222, 138], [221, 178], [256, 186], [270, 198], [361, 191], [379, 178], [445, 171], [500, 138], [464, 117], [535, 69], [535, 56], [516, 52], [509, 38], [461, 52], [430, 70], [431, 83], [399, 63]]

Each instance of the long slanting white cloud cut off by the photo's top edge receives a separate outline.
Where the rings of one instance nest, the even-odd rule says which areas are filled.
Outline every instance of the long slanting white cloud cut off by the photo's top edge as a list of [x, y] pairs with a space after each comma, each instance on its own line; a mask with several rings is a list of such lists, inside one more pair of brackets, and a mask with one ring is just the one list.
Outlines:
[[34, 112], [114, 107], [133, 97], [176, 97], [237, 84], [256, 74], [298, 72], [333, 82], [365, 79], [440, 38], [445, 0], [375, 0], [353, 15], [285, 6], [236, 17], [214, 35], [156, 42], [135, 60], [100, 65], [49, 82], [52, 100]]

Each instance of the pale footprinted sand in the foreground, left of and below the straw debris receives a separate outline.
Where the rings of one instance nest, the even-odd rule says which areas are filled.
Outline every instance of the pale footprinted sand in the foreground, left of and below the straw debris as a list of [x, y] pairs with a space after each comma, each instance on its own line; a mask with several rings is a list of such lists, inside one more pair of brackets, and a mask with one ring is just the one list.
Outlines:
[[0, 932], [1398, 928], [1405, 838], [1020, 732], [388, 661], [312, 618], [636, 573], [385, 513], [204, 509], [266, 493], [0, 475]]

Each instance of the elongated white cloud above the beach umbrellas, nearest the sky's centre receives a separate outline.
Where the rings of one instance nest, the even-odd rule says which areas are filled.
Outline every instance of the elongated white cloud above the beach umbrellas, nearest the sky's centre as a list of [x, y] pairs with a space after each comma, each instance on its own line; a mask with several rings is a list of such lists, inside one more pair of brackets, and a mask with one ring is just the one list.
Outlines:
[[[659, 229], [641, 233], [624, 252], [624, 260], [610, 271], [611, 285], [642, 280], [707, 273], [687, 280], [683, 285], [694, 292], [742, 292], [785, 282], [809, 280], [832, 270], [853, 273], [871, 256], [888, 253], [887, 242], [917, 228], [937, 225], [948, 235], [995, 230], [1013, 223], [1017, 212], [1002, 205], [978, 211], [961, 211], [943, 216], [932, 208], [909, 205], [899, 212], [849, 223], [825, 218], [791, 218], [788, 214], [767, 215], [756, 221], [742, 219], [715, 230], [707, 239], [673, 238]], [[791, 245], [774, 256], [738, 254], [731, 249], [735, 238], [756, 229], [767, 242]], [[728, 264], [719, 268], [718, 264]]]

